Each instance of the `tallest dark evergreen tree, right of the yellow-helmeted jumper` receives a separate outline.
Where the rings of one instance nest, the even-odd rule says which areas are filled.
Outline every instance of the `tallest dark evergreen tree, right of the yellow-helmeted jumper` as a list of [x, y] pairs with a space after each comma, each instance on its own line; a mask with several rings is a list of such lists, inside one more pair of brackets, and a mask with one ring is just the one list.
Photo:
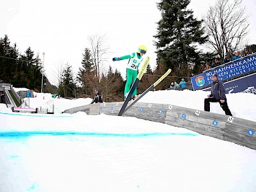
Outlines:
[[[190, 0], [161, 0], [157, 8], [162, 19], [157, 22], [157, 57], [165, 70], [172, 68], [176, 76], [190, 76], [195, 65], [200, 65], [200, 51], [196, 44], [204, 44], [202, 20], [193, 18], [193, 12], [187, 9]], [[159, 65], [159, 63], [157, 63]]]

